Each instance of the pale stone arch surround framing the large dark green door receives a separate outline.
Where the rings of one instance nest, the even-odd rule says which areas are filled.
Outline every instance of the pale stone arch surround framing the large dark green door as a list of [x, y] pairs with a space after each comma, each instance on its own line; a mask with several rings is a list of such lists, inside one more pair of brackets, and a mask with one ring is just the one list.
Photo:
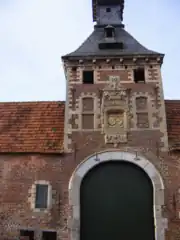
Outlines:
[[155, 221], [155, 239], [165, 239], [165, 229], [167, 220], [162, 216], [162, 206], [164, 205], [164, 184], [163, 179], [155, 166], [145, 157], [138, 156], [130, 152], [105, 151], [92, 155], [81, 162], [72, 174], [69, 182], [69, 204], [71, 208], [70, 216], [70, 238], [71, 240], [80, 239], [80, 186], [86, 173], [95, 167], [107, 161], [128, 161], [142, 168], [153, 184], [154, 196], [154, 221]]

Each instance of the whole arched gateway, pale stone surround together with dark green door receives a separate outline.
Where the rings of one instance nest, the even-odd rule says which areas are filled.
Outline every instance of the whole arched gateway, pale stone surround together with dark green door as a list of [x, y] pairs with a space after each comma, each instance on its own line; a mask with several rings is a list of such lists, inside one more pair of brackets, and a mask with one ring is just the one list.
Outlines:
[[69, 183], [71, 240], [164, 240], [164, 185], [144, 157], [120, 151], [90, 156]]

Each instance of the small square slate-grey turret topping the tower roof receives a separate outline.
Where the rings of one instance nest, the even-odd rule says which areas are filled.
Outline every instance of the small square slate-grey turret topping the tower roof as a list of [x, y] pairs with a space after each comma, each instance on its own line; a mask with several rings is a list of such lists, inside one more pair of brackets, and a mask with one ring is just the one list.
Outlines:
[[119, 25], [123, 21], [124, 0], [92, 0], [93, 22]]

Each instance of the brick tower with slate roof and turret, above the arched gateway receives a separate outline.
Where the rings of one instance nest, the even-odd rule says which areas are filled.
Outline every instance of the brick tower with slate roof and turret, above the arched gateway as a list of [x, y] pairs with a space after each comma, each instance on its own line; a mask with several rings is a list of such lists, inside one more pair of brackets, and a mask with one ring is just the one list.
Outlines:
[[62, 57], [67, 81], [65, 150], [168, 148], [163, 54], [124, 28], [124, 0], [93, 0], [92, 34]]

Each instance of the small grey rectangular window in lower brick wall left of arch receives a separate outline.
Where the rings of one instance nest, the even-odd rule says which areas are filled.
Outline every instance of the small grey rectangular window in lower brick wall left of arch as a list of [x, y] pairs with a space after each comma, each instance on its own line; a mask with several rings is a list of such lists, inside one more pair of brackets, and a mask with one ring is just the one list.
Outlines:
[[48, 185], [37, 184], [35, 208], [45, 209], [47, 208], [47, 202], [48, 202]]

